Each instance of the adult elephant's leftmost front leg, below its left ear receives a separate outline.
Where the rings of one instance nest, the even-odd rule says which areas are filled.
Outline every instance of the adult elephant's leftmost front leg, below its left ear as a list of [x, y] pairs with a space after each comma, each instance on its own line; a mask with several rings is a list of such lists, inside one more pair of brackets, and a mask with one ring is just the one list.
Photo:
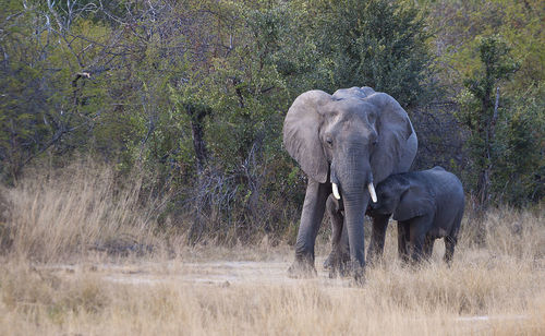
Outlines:
[[291, 277], [308, 277], [316, 274], [314, 244], [324, 217], [327, 196], [330, 193], [331, 184], [308, 179], [295, 243], [295, 261], [288, 269]]

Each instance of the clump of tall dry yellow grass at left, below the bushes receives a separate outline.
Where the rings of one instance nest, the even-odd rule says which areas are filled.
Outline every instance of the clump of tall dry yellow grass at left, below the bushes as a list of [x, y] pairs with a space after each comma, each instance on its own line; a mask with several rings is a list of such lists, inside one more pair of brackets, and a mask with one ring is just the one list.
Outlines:
[[143, 206], [142, 182], [143, 177], [135, 176], [117, 185], [113, 169], [82, 161], [2, 188], [10, 252], [55, 262], [116, 244], [152, 243], [154, 216], [162, 202], [149, 197]]

